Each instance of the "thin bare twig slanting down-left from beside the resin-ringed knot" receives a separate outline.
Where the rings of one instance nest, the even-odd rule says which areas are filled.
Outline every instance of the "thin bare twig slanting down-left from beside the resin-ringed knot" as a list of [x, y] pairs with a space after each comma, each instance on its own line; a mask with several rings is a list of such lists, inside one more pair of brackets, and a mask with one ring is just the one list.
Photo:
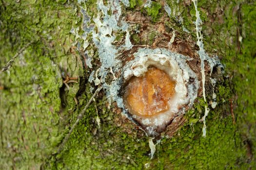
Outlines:
[[62, 149], [63, 149], [65, 143], [68, 141], [68, 139], [69, 139], [71, 133], [73, 132], [73, 130], [75, 129], [75, 127], [78, 125], [79, 120], [83, 118], [86, 109], [88, 108], [88, 106], [90, 105], [90, 103], [93, 101], [94, 97], [95, 97], [95, 96], [98, 94], [98, 92], [101, 90], [101, 88], [102, 88], [101, 86], [99, 86], [99, 87], [97, 88], [97, 90], [94, 92], [94, 94], [93, 94], [93, 96], [91, 97], [91, 99], [87, 102], [87, 104], [85, 105], [85, 107], [83, 108], [83, 110], [79, 113], [78, 118], [77, 118], [76, 122], [72, 125], [71, 129], [69, 130], [68, 135], [65, 136], [63, 142], [59, 145], [59, 149], [58, 149], [57, 154], [59, 154], [59, 153], [62, 151]]

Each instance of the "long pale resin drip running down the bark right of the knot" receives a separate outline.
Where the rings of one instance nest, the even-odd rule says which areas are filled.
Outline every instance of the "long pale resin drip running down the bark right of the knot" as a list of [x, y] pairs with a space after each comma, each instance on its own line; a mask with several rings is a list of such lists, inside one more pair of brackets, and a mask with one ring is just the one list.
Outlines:
[[[204, 102], [206, 102], [206, 97], [205, 97], [205, 73], [204, 73], [204, 60], [206, 59], [206, 57], [208, 57], [208, 55], [205, 53], [204, 51], [204, 48], [203, 48], [203, 35], [201, 34], [201, 30], [202, 28], [200, 27], [200, 25], [202, 24], [202, 20], [200, 18], [200, 14], [199, 14], [199, 11], [197, 10], [197, 0], [192, 0], [193, 3], [194, 3], [194, 6], [195, 6], [195, 10], [196, 10], [196, 22], [195, 25], [196, 25], [196, 31], [197, 31], [197, 45], [199, 47], [199, 51], [198, 54], [200, 56], [200, 59], [201, 59], [201, 74], [202, 74], [202, 87], [203, 87], [203, 99], [204, 99]], [[205, 118], [208, 116], [208, 113], [209, 113], [209, 110], [207, 108], [207, 106], [205, 106], [205, 112], [204, 112], [204, 116], [202, 118], [203, 120], [203, 129], [202, 129], [202, 132], [203, 132], [203, 137], [206, 136], [206, 124], [205, 124]]]

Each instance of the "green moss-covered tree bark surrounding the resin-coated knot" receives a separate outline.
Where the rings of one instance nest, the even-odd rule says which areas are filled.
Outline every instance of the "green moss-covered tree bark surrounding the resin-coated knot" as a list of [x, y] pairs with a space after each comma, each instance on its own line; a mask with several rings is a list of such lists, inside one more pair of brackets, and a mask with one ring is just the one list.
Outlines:
[[[186, 39], [184, 26], [196, 42], [193, 3], [166, 2], [172, 15], [165, 25]], [[143, 8], [141, 0], [131, 4], [123, 9], [140, 11], [151, 18], [152, 25], [166, 16], [162, 2], [154, 2], [153, 8]], [[95, 0], [83, 5], [96, 12]], [[107, 108], [103, 91], [90, 104], [62, 152], [56, 154], [92, 96], [87, 80], [98, 65], [97, 49], [90, 47], [94, 62], [93, 68], [88, 68], [77, 51], [77, 37], [70, 34], [72, 28], [81, 26], [77, 2], [0, 0], [0, 66], [34, 41], [16, 60], [10, 76], [0, 73], [0, 169], [144, 169], [146, 163], [150, 169], [256, 168], [256, 2], [198, 0], [198, 7], [205, 50], [217, 54], [225, 66], [225, 73], [217, 74], [218, 104], [207, 117], [205, 138], [198, 120], [206, 103], [198, 98], [185, 115], [185, 125], [172, 138], [162, 138], [150, 160], [148, 138], [133, 124], [122, 126], [115, 107]], [[150, 35], [148, 39], [137, 34], [131, 37], [134, 44], [151, 45], [158, 34]], [[78, 83], [68, 84], [68, 89], [62, 83], [66, 75], [77, 77]], [[210, 93], [207, 98], [211, 100]]]

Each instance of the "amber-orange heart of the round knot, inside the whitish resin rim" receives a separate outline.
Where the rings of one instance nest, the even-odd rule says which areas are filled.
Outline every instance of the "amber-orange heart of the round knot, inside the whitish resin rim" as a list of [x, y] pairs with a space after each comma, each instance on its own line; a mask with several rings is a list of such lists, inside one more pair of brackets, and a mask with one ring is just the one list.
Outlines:
[[132, 77], [125, 87], [124, 103], [131, 114], [153, 116], [169, 109], [175, 81], [163, 70], [148, 68], [142, 77]]

